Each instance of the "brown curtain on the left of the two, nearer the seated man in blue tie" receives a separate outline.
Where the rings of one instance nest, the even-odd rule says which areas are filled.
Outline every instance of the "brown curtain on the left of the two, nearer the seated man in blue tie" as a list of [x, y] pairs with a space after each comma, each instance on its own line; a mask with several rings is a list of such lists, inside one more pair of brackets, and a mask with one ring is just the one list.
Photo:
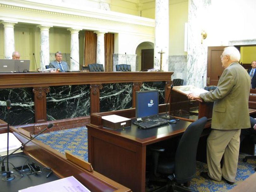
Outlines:
[[96, 63], [97, 35], [93, 31], [85, 31], [84, 35], [84, 66]]

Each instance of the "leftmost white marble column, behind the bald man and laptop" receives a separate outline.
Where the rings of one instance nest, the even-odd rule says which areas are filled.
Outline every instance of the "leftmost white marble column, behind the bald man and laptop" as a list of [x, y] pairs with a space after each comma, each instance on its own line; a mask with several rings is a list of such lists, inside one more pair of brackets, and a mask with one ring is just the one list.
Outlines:
[[15, 51], [14, 44], [14, 25], [17, 22], [3, 21], [4, 27], [4, 58], [11, 59], [12, 53]]

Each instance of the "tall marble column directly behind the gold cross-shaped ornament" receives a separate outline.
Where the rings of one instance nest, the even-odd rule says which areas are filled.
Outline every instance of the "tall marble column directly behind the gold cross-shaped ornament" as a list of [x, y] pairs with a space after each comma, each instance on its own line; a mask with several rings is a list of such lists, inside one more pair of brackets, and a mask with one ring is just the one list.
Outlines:
[[168, 71], [169, 1], [166, 0], [155, 0], [155, 69], [160, 69], [160, 52], [162, 52], [162, 70]]

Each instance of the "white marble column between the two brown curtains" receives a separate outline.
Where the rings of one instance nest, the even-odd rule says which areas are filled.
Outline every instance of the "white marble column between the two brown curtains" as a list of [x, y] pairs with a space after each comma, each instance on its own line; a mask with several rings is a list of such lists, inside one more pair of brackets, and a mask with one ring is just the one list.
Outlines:
[[105, 64], [104, 34], [105, 32], [94, 32], [97, 34], [96, 63]]

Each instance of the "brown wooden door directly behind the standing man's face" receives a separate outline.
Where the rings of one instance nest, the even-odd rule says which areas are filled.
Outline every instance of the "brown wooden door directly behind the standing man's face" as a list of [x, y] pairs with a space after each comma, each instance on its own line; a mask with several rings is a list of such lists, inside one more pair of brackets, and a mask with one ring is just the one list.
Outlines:
[[217, 85], [224, 68], [221, 63], [221, 54], [225, 46], [208, 47], [207, 54], [207, 81], [206, 85]]

